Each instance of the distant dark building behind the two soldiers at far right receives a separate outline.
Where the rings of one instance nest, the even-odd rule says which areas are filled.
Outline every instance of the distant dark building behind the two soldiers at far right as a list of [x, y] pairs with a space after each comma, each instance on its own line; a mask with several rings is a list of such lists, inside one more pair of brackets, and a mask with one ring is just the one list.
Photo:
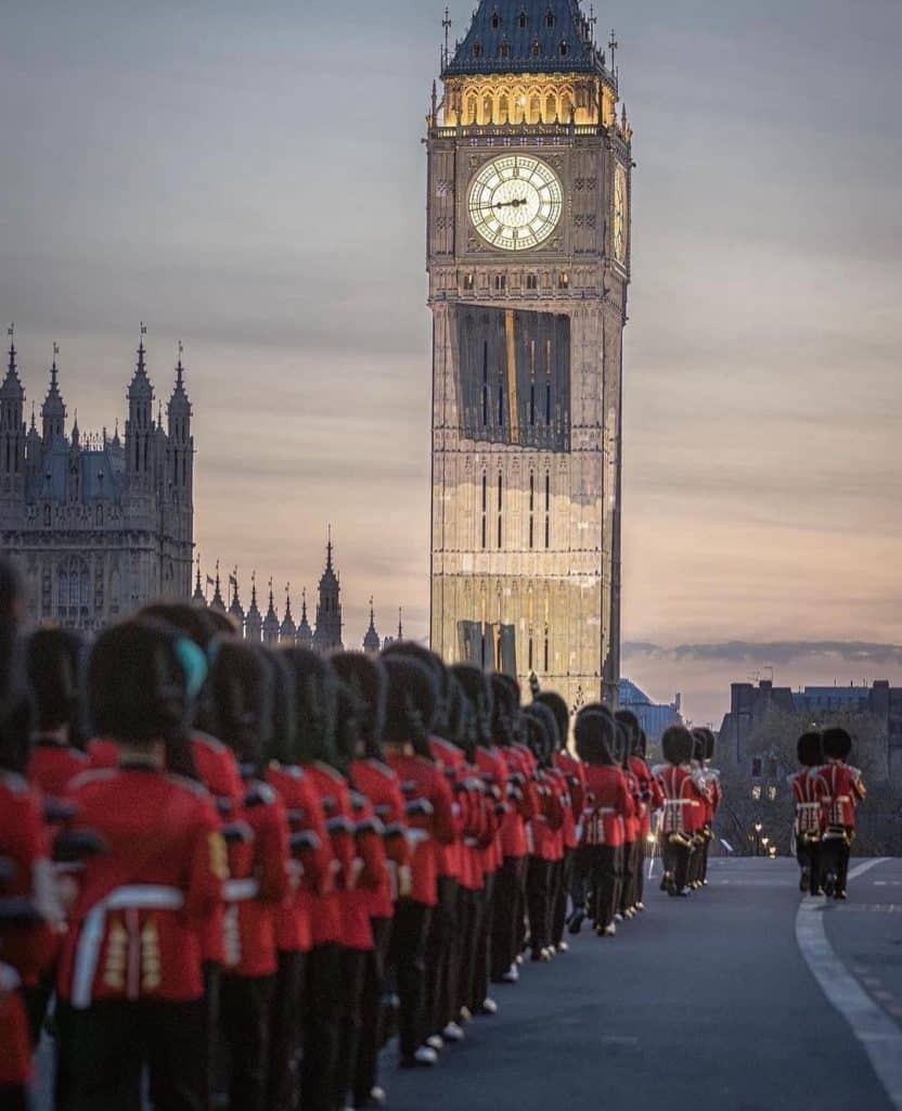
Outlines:
[[876, 767], [885, 771], [890, 782], [902, 783], [902, 687], [891, 687], [885, 679], [870, 687], [805, 687], [798, 691], [774, 687], [769, 680], [758, 685], [733, 683], [730, 711], [720, 730], [721, 763], [733, 768], [749, 763], [753, 757], [749, 740], [774, 710], [804, 715], [812, 725], [822, 724], [831, 714], [872, 714], [882, 727], [881, 751], [873, 753]]

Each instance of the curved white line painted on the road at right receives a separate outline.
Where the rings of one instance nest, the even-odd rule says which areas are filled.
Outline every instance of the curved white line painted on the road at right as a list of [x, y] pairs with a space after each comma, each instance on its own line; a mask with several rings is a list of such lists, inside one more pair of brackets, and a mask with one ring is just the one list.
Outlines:
[[[885, 859], [859, 864], [849, 873], [849, 879], [882, 864]], [[828, 907], [833, 909], [834, 904], [810, 895], [802, 900], [795, 915], [795, 940], [824, 995], [861, 1042], [893, 1108], [902, 1111], [902, 1031], [871, 999], [830, 944], [823, 922]]]

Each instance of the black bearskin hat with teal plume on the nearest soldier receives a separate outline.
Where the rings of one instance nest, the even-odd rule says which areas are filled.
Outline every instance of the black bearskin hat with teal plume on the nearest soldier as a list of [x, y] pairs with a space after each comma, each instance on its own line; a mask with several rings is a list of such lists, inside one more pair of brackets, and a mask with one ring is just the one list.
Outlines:
[[[136, 747], [180, 741], [194, 693], [182, 662], [189, 657], [187, 645], [174, 629], [149, 619], [104, 629], [88, 659], [88, 708], [96, 735]], [[198, 653], [197, 645], [190, 649]]]

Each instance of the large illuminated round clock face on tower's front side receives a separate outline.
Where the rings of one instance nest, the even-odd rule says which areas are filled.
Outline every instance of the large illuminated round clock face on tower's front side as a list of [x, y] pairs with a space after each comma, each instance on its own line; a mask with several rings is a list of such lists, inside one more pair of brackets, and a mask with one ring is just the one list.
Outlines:
[[538, 158], [509, 154], [482, 167], [468, 204], [470, 220], [487, 243], [528, 251], [543, 243], [560, 222], [561, 182]]

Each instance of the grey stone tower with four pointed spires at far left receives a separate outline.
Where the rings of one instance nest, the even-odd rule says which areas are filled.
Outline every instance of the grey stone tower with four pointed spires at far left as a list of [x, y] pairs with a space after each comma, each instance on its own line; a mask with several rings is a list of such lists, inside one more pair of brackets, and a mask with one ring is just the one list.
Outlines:
[[[11, 331], [11, 329], [10, 329]], [[126, 437], [67, 436], [54, 348], [40, 431], [23, 422], [16, 348], [0, 387], [0, 548], [18, 564], [32, 621], [94, 630], [156, 598], [191, 597], [194, 440], [181, 351], [153, 417], [144, 361], [128, 389]]]

